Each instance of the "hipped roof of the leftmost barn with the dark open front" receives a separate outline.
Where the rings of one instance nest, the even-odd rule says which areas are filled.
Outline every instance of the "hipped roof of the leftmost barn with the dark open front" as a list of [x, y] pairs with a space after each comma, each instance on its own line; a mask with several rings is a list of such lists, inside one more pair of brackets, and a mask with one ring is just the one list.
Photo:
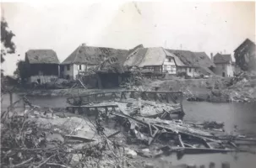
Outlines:
[[54, 50], [28, 50], [25, 57], [30, 64], [59, 64]]

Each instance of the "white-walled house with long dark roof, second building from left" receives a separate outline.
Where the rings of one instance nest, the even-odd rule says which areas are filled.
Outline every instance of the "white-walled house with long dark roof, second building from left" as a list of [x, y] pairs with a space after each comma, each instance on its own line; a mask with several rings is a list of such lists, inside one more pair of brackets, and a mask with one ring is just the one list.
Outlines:
[[60, 66], [60, 74], [68, 80], [76, 80], [79, 76], [92, 71], [112, 55], [123, 55], [127, 50], [117, 50], [105, 47], [79, 45]]

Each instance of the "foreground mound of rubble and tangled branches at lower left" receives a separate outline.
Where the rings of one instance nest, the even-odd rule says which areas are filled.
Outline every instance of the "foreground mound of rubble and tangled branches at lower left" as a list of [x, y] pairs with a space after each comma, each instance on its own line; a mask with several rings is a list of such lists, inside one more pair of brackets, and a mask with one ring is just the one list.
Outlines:
[[1, 167], [114, 167], [127, 165], [119, 144], [97, 134], [86, 118], [59, 118], [42, 108], [4, 116], [1, 123]]

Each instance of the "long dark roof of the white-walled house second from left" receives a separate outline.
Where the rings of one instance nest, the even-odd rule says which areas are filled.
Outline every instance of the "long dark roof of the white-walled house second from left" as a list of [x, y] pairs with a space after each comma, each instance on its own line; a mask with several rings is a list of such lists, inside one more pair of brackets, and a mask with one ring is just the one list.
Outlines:
[[98, 65], [109, 56], [127, 55], [127, 53], [128, 50], [80, 45], [62, 64]]

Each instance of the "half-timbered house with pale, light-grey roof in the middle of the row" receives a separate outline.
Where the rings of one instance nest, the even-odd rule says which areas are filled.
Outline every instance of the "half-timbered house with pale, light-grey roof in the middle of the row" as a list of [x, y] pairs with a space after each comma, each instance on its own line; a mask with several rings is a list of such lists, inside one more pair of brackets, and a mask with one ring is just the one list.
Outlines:
[[150, 71], [170, 75], [176, 75], [179, 68], [185, 67], [176, 55], [162, 47], [139, 47], [128, 55], [124, 66], [138, 67], [144, 72]]

